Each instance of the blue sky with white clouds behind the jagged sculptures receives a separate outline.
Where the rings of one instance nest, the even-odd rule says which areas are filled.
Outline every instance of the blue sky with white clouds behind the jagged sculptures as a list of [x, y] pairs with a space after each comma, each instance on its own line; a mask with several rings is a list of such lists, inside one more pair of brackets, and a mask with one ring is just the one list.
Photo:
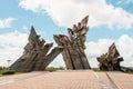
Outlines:
[[[66, 28], [88, 14], [85, 52], [90, 65], [98, 67], [96, 57], [115, 42], [124, 58], [121, 65], [133, 67], [133, 0], [1, 0], [0, 66], [22, 55], [31, 26], [54, 42], [53, 34], [66, 34]], [[64, 67], [62, 56], [51, 66]]]

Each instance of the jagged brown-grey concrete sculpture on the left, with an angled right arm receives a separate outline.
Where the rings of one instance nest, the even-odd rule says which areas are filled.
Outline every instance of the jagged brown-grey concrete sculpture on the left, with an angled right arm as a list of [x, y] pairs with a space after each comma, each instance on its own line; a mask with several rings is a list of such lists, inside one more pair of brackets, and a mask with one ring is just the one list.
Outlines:
[[[53, 43], [45, 43], [44, 39], [40, 39], [34, 28], [31, 28], [29, 42], [24, 47], [23, 55], [10, 67], [17, 71], [40, 71], [53, 61], [53, 59], [63, 50], [62, 47], [55, 47], [48, 55]], [[21, 41], [21, 39], [20, 39]]]

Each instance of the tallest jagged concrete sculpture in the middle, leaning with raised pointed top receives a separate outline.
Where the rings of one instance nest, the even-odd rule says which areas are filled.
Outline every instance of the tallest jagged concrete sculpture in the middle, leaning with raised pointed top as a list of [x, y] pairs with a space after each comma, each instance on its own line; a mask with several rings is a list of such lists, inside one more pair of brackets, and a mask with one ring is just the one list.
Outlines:
[[68, 28], [69, 37], [64, 34], [55, 34], [54, 40], [58, 46], [64, 48], [62, 56], [65, 62], [66, 69], [90, 69], [89, 61], [86, 59], [84, 49], [85, 34], [89, 30], [88, 24], [89, 17], [86, 16], [78, 26], [73, 24], [73, 28]]

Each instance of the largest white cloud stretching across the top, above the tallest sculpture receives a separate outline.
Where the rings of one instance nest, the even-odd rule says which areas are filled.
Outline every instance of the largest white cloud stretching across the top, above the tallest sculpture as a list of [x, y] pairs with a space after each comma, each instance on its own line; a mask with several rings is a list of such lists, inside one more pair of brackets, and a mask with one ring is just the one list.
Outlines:
[[90, 16], [90, 27], [130, 29], [133, 26], [132, 13], [108, 4], [105, 0], [20, 0], [19, 6], [33, 12], [47, 12], [63, 27], [71, 27], [86, 14]]

